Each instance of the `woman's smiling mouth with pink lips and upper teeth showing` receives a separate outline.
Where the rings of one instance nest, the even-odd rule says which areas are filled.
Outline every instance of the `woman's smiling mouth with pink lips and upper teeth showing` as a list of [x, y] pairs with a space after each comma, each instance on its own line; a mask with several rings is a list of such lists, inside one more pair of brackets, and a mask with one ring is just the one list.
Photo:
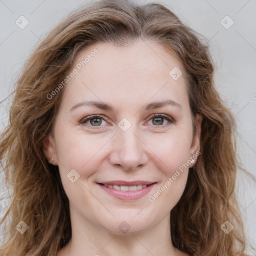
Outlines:
[[109, 181], [97, 183], [105, 192], [121, 200], [135, 200], [150, 192], [156, 182]]

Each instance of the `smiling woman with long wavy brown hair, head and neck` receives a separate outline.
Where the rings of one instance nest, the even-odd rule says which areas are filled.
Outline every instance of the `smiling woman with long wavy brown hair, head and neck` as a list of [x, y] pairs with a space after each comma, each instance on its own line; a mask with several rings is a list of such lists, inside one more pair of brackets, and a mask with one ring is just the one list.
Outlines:
[[234, 118], [212, 76], [160, 4], [98, 1], [53, 29], [1, 136], [0, 254], [245, 255]]

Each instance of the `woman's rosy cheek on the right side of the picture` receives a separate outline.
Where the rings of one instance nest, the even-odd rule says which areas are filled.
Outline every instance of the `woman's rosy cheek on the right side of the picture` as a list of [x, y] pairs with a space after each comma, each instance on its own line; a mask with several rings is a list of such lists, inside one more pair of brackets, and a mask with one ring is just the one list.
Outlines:
[[154, 153], [160, 159], [157, 167], [161, 166], [162, 179], [148, 199], [169, 212], [178, 203], [186, 187], [190, 147], [187, 140], [179, 136], [161, 141]]

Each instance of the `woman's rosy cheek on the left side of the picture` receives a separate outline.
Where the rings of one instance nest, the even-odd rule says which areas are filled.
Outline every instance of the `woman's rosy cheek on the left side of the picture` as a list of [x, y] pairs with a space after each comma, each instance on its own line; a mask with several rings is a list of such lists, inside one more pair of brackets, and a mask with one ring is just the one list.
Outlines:
[[[87, 179], [100, 168], [102, 164], [100, 159], [102, 159], [104, 153], [103, 146], [109, 140], [106, 136], [100, 138], [96, 138], [96, 136], [84, 134], [80, 131], [78, 133], [71, 132], [68, 129], [62, 130], [61, 133], [56, 135], [61, 182], [70, 203], [76, 206], [84, 201], [84, 198], [91, 196], [87, 190]], [[69, 173], [72, 173], [72, 175]], [[74, 183], [69, 179], [73, 175], [75, 176]]]

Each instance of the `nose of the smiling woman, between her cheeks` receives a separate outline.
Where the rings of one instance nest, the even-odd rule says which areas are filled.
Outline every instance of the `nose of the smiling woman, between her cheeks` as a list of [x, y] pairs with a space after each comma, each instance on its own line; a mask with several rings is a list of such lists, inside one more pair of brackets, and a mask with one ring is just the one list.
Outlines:
[[110, 163], [116, 167], [122, 166], [125, 170], [135, 170], [143, 167], [147, 161], [146, 145], [141, 136], [135, 134], [132, 125], [128, 130], [118, 128], [115, 139], [112, 141]]

